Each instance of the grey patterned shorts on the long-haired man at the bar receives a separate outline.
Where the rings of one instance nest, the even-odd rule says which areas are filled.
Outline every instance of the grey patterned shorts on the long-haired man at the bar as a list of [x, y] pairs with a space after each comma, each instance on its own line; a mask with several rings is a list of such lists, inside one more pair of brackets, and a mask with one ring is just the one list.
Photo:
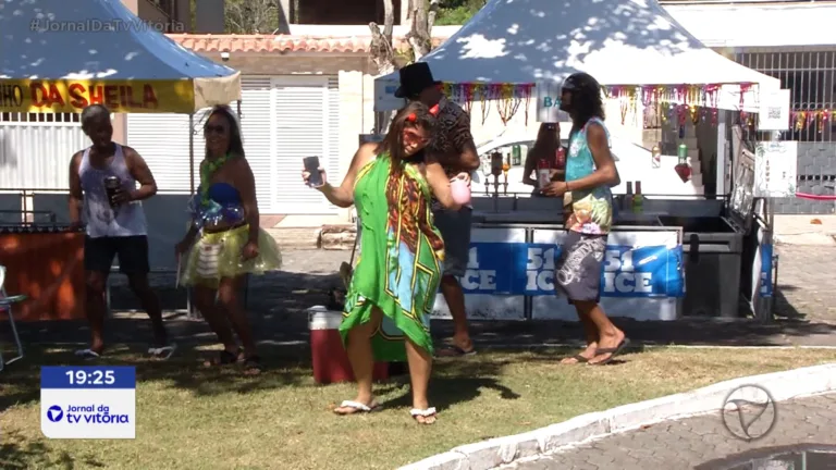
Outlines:
[[557, 295], [569, 302], [601, 299], [601, 273], [604, 269], [606, 235], [585, 235], [569, 231], [564, 238], [561, 258], [554, 267]]

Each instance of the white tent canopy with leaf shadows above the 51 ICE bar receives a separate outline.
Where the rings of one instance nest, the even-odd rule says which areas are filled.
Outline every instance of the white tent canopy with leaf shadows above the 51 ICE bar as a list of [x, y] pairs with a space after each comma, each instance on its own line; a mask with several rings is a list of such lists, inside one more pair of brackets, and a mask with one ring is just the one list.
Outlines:
[[778, 86], [704, 47], [655, 0], [490, 0], [421, 60], [451, 83], [560, 82], [587, 72], [602, 85]]

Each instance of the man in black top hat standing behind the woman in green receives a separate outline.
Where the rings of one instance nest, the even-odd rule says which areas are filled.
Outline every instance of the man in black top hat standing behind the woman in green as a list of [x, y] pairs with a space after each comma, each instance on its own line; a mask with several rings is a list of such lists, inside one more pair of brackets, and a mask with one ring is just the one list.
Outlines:
[[[459, 106], [448, 101], [441, 91], [441, 82], [432, 77], [430, 66], [417, 62], [401, 69], [401, 87], [395, 97], [410, 101], [421, 101], [430, 108], [438, 106], [438, 125], [432, 140], [427, 146], [428, 158], [438, 160], [451, 178], [465, 178], [470, 183], [470, 172], [479, 168], [474, 136], [470, 134], [470, 116]], [[442, 208], [433, 198], [432, 210], [435, 226], [444, 238], [444, 273], [441, 279], [441, 292], [450, 307], [455, 333], [453, 347], [442, 351], [445, 356], [467, 356], [476, 354], [467, 327], [465, 295], [457, 277], [465, 274], [468, 251], [470, 249], [470, 219], [472, 207], [466, 206], [458, 211]]]

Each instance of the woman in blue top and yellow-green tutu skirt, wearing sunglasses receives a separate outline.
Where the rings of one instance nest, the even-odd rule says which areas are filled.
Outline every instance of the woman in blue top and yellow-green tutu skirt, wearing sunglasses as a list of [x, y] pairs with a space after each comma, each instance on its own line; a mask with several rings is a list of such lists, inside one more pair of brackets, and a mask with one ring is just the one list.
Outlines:
[[276, 270], [282, 258], [273, 238], [259, 227], [255, 177], [233, 111], [214, 107], [204, 136], [206, 159], [200, 163], [200, 187], [189, 203], [192, 223], [176, 246], [179, 257], [187, 255], [182, 283], [194, 288], [195, 306], [223, 343], [212, 363], [243, 361], [247, 371], [257, 372], [261, 360], [238, 293], [246, 274]]

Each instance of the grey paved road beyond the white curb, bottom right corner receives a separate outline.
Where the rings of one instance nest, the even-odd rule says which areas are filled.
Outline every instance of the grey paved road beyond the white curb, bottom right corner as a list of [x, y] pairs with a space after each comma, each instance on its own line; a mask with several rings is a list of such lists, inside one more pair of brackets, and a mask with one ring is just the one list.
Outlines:
[[[772, 457], [794, 446], [836, 445], [836, 394], [777, 404], [775, 428], [764, 437], [747, 443], [733, 437], [718, 415], [669, 421], [643, 430], [617, 434], [538, 460], [507, 466], [516, 470], [644, 470], [791, 469], [787, 458]], [[782, 448], [785, 447], [785, 448]], [[833, 450], [836, 450], [834, 447]], [[831, 450], [831, 452], [833, 452]], [[809, 469], [836, 468], [836, 454], [827, 463], [819, 457]], [[784, 465], [743, 466], [752, 460], [784, 460]]]

